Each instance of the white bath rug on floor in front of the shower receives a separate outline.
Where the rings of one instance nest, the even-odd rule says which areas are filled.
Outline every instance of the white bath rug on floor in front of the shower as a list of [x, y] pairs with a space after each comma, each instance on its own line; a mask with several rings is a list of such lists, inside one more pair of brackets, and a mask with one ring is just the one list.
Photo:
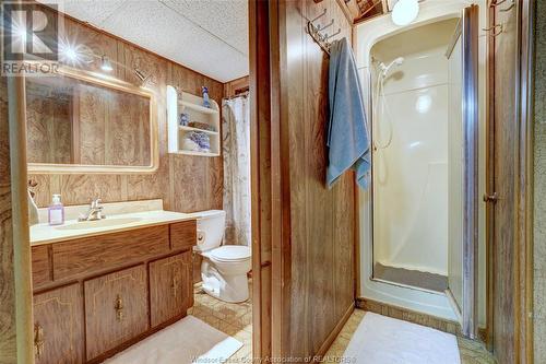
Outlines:
[[348, 343], [343, 363], [461, 364], [453, 334], [366, 313]]

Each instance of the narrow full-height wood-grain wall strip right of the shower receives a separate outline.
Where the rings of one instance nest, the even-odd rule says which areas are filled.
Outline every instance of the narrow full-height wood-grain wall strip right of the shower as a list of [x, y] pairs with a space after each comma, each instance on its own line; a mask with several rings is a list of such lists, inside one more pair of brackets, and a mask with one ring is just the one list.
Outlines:
[[[491, 10], [502, 24], [494, 39], [492, 105], [489, 136], [492, 188], [492, 244], [489, 283], [492, 353], [499, 364], [533, 363], [532, 181], [533, 1], [519, 0], [511, 11]], [[535, 361], [539, 363], [539, 361]]]

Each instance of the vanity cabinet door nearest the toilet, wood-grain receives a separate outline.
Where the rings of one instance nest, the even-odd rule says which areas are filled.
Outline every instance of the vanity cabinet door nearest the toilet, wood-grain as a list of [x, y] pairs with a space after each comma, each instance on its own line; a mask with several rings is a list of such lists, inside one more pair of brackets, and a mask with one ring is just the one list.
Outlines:
[[186, 315], [193, 305], [191, 251], [150, 263], [152, 327]]

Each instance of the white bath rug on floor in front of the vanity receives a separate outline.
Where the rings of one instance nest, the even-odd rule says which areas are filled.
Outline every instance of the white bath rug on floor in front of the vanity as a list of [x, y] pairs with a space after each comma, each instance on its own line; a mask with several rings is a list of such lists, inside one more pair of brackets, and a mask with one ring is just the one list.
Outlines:
[[135, 343], [107, 364], [219, 364], [242, 343], [193, 316], [187, 316]]

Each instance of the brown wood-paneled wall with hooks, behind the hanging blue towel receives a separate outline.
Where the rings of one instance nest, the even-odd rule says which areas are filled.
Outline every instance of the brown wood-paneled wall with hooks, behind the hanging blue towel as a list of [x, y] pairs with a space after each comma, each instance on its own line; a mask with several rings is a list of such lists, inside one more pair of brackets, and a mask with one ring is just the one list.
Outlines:
[[356, 218], [353, 173], [325, 187], [329, 58], [306, 26], [324, 9], [318, 22], [333, 19], [332, 32], [342, 30], [335, 38], [351, 40], [352, 25], [335, 0], [281, 1], [280, 9], [281, 171], [289, 184], [283, 248], [290, 261], [282, 352], [307, 357], [327, 351], [354, 307]]

